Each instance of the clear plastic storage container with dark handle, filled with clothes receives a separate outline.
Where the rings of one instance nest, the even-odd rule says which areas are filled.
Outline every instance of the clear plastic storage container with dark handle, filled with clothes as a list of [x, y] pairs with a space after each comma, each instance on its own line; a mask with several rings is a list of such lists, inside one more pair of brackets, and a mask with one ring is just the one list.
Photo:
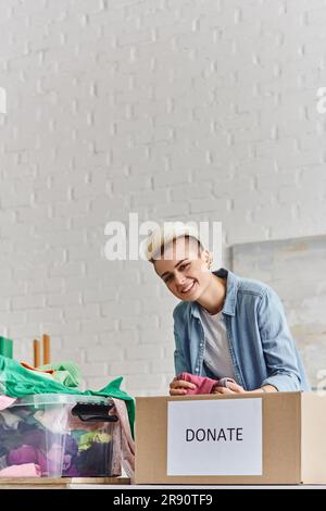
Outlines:
[[120, 423], [109, 415], [113, 407], [112, 399], [97, 396], [17, 399], [0, 411], [0, 476], [2, 469], [25, 463], [35, 464], [42, 477], [114, 475], [113, 433]]

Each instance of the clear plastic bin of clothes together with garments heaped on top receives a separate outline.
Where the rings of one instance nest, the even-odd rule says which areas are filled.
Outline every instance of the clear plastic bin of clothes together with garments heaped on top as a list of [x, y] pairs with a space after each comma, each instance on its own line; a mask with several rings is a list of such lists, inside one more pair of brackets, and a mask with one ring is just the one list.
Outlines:
[[135, 403], [121, 382], [82, 392], [75, 364], [35, 370], [0, 356], [0, 476], [112, 476], [123, 466], [133, 482]]

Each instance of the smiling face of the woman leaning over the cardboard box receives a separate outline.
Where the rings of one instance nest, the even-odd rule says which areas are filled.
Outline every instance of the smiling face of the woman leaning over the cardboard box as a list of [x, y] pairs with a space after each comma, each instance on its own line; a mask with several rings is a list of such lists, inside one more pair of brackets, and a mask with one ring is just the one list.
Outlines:
[[196, 301], [212, 278], [209, 262], [210, 253], [203, 250], [200, 254], [196, 240], [177, 238], [154, 262], [154, 267], [176, 298]]

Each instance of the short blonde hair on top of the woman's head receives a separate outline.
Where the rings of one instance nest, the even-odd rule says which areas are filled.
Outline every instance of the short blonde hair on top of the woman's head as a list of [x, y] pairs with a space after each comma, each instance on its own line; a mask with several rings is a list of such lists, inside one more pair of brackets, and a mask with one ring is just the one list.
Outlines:
[[147, 238], [145, 250], [147, 260], [154, 263], [155, 259], [160, 259], [165, 248], [171, 245], [172, 241], [180, 237], [196, 239], [200, 250], [203, 250], [196, 227], [184, 224], [183, 222], [166, 222], [154, 229]]

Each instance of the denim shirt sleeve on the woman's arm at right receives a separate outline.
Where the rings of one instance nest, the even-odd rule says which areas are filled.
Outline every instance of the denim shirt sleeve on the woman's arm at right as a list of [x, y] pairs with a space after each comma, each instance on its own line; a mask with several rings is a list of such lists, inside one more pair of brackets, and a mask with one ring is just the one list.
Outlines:
[[269, 287], [261, 298], [258, 321], [267, 367], [267, 377], [261, 386], [273, 385], [278, 391], [300, 390], [296, 345], [280, 299]]

